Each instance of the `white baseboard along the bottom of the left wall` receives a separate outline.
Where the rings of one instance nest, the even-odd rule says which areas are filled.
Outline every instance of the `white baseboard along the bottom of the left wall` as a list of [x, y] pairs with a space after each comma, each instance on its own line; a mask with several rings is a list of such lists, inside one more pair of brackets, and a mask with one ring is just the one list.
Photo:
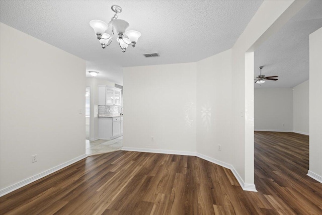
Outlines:
[[6, 195], [6, 194], [8, 194], [8, 193], [10, 193], [12, 191], [15, 191], [15, 190], [17, 190], [17, 189], [19, 189], [19, 188], [21, 188], [23, 186], [26, 186], [27, 184], [30, 184], [30, 183], [32, 183], [34, 181], [37, 181], [37, 180], [39, 180], [39, 179], [41, 179], [41, 178], [43, 178], [43, 177], [45, 177], [45, 176], [47, 176], [49, 174], [52, 174], [52, 173], [54, 173], [54, 172], [56, 172], [56, 171], [58, 171], [58, 170], [60, 170], [62, 168], [65, 168], [65, 167], [67, 167], [67, 166], [69, 166], [69, 165], [71, 165], [71, 164], [73, 164], [73, 163], [75, 163], [77, 161], [80, 161], [80, 160], [82, 160], [82, 159], [84, 159], [86, 157], [87, 157], [87, 155], [78, 156], [77, 158], [71, 159], [70, 161], [67, 161], [67, 162], [65, 162], [63, 164], [60, 164], [60, 165], [56, 166], [56, 167], [50, 168], [49, 170], [46, 170], [46, 171], [44, 171], [42, 173], [34, 175], [34, 176], [30, 177], [30, 178], [27, 178], [27, 179], [25, 179], [25, 180], [23, 180], [21, 182], [18, 182], [16, 184], [13, 184], [13, 185], [9, 186], [9, 187], [6, 187], [6, 188], [0, 190], [0, 197], [3, 196], [3, 195]]

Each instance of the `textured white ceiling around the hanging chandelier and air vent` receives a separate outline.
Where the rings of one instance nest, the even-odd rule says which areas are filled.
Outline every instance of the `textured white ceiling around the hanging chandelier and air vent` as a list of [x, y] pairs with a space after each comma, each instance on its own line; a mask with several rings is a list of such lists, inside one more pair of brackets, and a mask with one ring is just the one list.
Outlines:
[[[1, 1], [0, 21], [85, 59], [87, 71], [99, 71], [100, 78], [122, 85], [122, 67], [198, 61], [231, 48], [261, 4], [262, 1]], [[103, 50], [89, 25], [94, 19], [108, 23], [113, 16], [112, 5], [122, 7], [118, 17], [130, 23], [129, 30], [142, 33], [136, 47], [128, 47], [125, 53], [115, 40]], [[143, 56], [153, 52], [160, 57]]]

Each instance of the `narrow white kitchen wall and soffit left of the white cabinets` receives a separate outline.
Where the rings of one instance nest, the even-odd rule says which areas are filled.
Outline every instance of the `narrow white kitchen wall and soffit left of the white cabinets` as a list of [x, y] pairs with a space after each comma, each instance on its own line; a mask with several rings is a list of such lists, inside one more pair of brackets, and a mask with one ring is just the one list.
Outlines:
[[91, 112], [90, 112], [90, 140], [99, 138], [99, 118], [98, 118], [98, 104], [99, 104], [99, 85], [106, 85], [115, 87], [115, 84], [105, 79], [98, 77], [86, 78], [86, 87], [91, 88]]

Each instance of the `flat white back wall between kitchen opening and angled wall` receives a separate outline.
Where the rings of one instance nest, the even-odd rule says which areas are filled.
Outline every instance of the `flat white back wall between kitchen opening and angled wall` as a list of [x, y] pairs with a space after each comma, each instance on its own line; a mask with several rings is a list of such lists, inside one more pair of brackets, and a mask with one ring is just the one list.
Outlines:
[[123, 149], [196, 152], [196, 63], [126, 67], [123, 84]]

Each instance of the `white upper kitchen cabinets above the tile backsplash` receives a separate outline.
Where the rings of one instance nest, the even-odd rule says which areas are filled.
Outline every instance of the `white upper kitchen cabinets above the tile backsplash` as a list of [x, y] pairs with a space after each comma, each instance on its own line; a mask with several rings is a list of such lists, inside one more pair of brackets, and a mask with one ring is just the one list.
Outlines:
[[99, 85], [99, 105], [121, 105], [121, 89]]

